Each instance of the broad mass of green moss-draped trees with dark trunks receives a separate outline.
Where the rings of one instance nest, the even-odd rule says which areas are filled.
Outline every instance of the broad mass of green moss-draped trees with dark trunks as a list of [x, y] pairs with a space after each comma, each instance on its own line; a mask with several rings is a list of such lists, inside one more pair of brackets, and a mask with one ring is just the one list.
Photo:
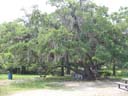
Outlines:
[[[24, 18], [0, 25], [0, 68], [14, 73], [95, 80], [102, 70], [128, 66], [128, 8], [109, 14], [90, 0], [49, 0], [53, 13], [37, 6]], [[24, 10], [25, 11], [25, 10]]]

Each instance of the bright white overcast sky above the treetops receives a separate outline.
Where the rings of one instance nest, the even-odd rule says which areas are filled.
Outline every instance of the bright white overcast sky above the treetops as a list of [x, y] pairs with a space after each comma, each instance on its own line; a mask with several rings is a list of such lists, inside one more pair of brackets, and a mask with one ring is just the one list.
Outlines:
[[[127, 6], [128, 0], [94, 0], [98, 5], [105, 5], [109, 12], [118, 11], [120, 6]], [[0, 23], [9, 22], [16, 18], [22, 17], [26, 9], [28, 12], [33, 5], [38, 5], [43, 12], [53, 12], [55, 8], [46, 4], [46, 0], [0, 0]]]

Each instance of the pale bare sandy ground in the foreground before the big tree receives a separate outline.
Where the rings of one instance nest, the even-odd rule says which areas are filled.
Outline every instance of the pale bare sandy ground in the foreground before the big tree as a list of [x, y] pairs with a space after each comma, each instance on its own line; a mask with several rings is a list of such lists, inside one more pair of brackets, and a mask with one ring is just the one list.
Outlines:
[[110, 81], [61, 83], [65, 89], [30, 90], [10, 96], [128, 96], [128, 91], [118, 89], [117, 85]]

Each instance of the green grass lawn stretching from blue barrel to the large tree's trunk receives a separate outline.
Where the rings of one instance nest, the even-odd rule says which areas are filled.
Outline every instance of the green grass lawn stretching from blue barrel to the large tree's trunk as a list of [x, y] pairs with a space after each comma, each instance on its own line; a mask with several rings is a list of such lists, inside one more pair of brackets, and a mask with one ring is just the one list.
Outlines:
[[[7, 80], [7, 75], [0, 75], [0, 80]], [[2, 77], [3, 76], [3, 77]], [[0, 86], [0, 96], [7, 96], [16, 91], [30, 90], [30, 89], [60, 89], [64, 88], [62, 81], [70, 81], [71, 77], [65, 76], [48, 76], [47, 78], [40, 78], [38, 75], [14, 75], [12, 83], [9, 85]], [[10, 81], [10, 80], [9, 80]], [[60, 82], [60, 83], [58, 83]]]

